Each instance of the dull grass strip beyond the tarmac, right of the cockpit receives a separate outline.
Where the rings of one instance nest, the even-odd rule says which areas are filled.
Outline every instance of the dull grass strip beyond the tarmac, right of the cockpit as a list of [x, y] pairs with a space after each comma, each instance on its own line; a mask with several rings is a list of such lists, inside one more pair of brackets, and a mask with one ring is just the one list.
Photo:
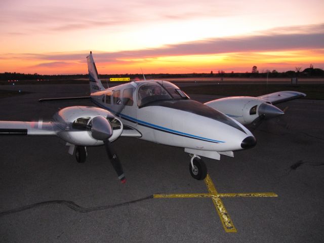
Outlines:
[[298, 91], [305, 93], [306, 99], [324, 99], [324, 84], [301, 84], [292, 86], [288, 84], [226, 84], [201, 85], [183, 87], [187, 94], [223, 95], [223, 96], [261, 96], [278, 91]]

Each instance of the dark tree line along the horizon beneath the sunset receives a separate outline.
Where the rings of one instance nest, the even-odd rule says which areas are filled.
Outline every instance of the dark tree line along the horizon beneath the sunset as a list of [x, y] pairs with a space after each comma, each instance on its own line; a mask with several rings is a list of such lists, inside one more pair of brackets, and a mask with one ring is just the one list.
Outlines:
[[[110, 78], [110, 77], [121, 77], [127, 76], [131, 79], [143, 78], [143, 74], [100, 74], [100, 78]], [[16, 72], [4, 72], [0, 73], [0, 80], [58, 80], [58, 79], [80, 79], [88, 78], [88, 74], [54, 74], [54, 75], [42, 75], [38, 73], [25, 74]], [[149, 73], [145, 74], [147, 79], [156, 78], [185, 78], [185, 77], [245, 77], [245, 78], [260, 78], [260, 77], [324, 77], [324, 70], [320, 68], [314, 68], [312, 64], [310, 67], [305, 68], [301, 71], [300, 67], [296, 67], [296, 71], [290, 70], [286, 72], [278, 72], [276, 70], [265, 70], [259, 72], [257, 66], [252, 67], [251, 72], [229, 72], [226, 73], [223, 70], [218, 70], [218, 73], [184, 73], [184, 74], [171, 74], [171, 73]]]

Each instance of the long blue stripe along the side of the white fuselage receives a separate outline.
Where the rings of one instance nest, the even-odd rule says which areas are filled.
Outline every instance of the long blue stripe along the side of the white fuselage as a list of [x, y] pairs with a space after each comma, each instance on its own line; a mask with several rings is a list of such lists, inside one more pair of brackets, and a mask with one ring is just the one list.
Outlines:
[[102, 107], [102, 108], [104, 108], [106, 110], [109, 110], [113, 114], [115, 114], [117, 116], [120, 116], [121, 118], [123, 118], [125, 120], [131, 121], [132, 123], [137, 123], [138, 125], [141, 125], [141, 126], [144, 126], [144, 127], [147, 127], [147, 128], [151, 128], [151, 129], [155, 129], [155, 130], [158, 130], [158, 131], [167, 132], [167, 133], [171, 133], [171, 134], [175, 134], [175, 135], [179, 135], [179, 136], [183, 136], [183, 137], [187, 137], [187, 138], [193, 138], [193, 139], [198, 139], [198, 140], [202, 140], [202, 141], [212, 142], [212, 143], [225, 143], [224, 141], [218, 141], [218, 140], [214, 140], [214, 139], [199, 137], [199, 136], [195, 136], [195, 135], [192, 135], [192, 134], [183, 133], [183, 132], [180, 132], [180, 131], [176, 131], [176, 130], [172, 130], [172, 129], [169, 129], [169, 128], [157, 126], [157, 125], [154, 125], [154, 124], [151, 124], [151, 123], [147, 123], [146, 121], [138, 120], [138, 119], [136, 119], [134, 117], [131, 117], [131, 116], [128, 116], [128, 115], [125, 115], [125, 114], [122, 114], [122, 113], [117, 113], [114, 110], [100, 104], [99, 102], [97, 102], [94, 99], [91, 99], [91, 101], [93, 103], [95, 103], [96, 105], [98, 105], [98, 106], [100, 106], [100, 107]]

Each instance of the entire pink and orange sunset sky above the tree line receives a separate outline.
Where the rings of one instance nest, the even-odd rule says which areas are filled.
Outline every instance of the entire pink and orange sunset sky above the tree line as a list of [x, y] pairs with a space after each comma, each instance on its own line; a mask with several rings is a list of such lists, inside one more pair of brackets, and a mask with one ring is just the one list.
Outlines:
[[324, 1], [2, 0], [0, 72], [324, 69]]

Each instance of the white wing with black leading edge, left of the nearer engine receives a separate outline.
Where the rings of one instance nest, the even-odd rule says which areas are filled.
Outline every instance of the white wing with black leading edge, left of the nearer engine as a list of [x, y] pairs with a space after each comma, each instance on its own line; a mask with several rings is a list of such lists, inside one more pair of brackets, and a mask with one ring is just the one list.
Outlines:
[[43, 121], [0, 121], [0, 135], [55, 136], [52, 123]]

